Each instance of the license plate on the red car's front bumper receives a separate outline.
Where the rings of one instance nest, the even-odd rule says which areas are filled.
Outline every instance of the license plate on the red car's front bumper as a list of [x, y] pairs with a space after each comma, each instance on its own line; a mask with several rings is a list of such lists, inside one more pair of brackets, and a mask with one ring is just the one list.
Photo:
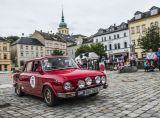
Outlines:
[[91, 88], [91, 89], [86, 89], [86, 90], [82, 90], [82, 91], [78, 91], [78, 96], [87, 96], [90, 94], [94, 94], [99, 92], [101, 89], [103, 89], [103, 87], [96, 87], [96, 88]]

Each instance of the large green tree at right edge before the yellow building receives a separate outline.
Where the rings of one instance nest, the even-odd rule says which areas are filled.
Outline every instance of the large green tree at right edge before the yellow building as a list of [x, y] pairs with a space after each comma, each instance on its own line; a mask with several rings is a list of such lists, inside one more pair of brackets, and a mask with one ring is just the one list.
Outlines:
[[149, 27], [145, 34], [139, 38], [138, 42], [145, 51], [148, 51], [150, 48], [153, 51], [157, 51], [160, 48], [160, 28], [158, 26]]

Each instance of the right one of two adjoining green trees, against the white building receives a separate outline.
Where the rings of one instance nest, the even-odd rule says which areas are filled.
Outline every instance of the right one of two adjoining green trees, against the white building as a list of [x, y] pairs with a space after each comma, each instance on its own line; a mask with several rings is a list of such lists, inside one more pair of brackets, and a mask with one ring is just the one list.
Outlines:
[[91, 44], [91, 50], [99, 56], [105, 55], [104, 45], [102, 43]]

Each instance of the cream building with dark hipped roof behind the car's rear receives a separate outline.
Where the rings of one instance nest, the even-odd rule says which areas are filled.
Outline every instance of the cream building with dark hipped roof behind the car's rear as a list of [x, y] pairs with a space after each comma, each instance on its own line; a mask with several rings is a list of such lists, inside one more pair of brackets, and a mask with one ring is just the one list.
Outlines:
[[25, 61], [45, 56], [45, 47], [35, 38], [21, 37], [11, 45], [11, 55], [15, 66], [21, 67]]

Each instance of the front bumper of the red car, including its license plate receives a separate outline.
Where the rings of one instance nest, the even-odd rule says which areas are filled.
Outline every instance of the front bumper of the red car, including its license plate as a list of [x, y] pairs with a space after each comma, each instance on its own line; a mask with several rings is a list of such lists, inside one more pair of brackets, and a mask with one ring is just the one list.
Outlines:
[[71, 97], [80, 97], [80, 96], [88, 96], [94, 93], [98, 93], [102, 89], [106, 89], [108, 84], [96, 86], [92, 88], [86, 88], [84, 90], [77, 90], [76, 92], [67, 92], [67, 93], [58, 93], [57, 96], [59, 98], [71, 98]]

